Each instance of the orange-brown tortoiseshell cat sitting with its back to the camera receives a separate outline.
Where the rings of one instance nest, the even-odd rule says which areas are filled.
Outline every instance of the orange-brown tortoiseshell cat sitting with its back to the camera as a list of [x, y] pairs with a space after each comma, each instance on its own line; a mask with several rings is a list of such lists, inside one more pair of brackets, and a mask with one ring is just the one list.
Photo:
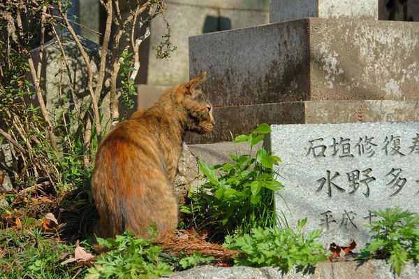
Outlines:
[[178, 205], [171, 180], [185, 133], [205, 134], [215, 125], [212, 105], [201, 90], [206, 75], [163, 92], [103, 138], [91, 180], [98, 236], [112, 238], [132, 229], [147, 238], [154, 222], [159, 232], [175, 232]]

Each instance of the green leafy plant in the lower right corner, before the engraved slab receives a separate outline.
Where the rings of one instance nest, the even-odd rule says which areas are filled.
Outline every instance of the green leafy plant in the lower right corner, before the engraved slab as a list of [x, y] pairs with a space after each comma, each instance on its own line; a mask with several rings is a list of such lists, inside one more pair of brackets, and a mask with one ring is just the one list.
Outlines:
[[361, 250], [358, 259], [387, 259], [392, 270], [400, 274], [406, 261], [419, 260], [419, 215], [401, 208], [371, 213], [381, 220], [365, 225], [371, 227], [373, 241]]

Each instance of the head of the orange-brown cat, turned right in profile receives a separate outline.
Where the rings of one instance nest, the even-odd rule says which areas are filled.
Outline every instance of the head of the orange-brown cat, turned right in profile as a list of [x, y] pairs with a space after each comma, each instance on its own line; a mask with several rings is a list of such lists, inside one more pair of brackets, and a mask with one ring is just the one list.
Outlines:
[[202, 84], [207, 72], [201, 73], [182, 87], [182, 106], [188, 113], [186, 129], [198, 134], [205, 134], [215, 126], [212, 116], [212, 104], [205, 99]]

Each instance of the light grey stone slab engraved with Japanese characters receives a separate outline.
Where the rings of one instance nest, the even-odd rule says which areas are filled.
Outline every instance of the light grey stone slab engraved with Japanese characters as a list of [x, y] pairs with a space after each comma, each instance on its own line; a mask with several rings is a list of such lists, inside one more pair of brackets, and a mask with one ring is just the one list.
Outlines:
[[[308, 217], [320, 241], [370, 241], [370, 210], [419, 213], [419, 122], [272, 125], [267, 141], [281, 157], [277, 213], [288, 224]], [[288, 210], [289, 208], [289, 210]]]

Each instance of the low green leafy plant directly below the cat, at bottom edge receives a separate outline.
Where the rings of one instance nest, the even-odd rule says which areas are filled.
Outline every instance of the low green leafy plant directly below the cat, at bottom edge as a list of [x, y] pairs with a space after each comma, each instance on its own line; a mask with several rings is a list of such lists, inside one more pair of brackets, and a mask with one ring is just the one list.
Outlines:
[[135, 238], [131, 231], [115, 239], [97, 238], [100, 245], [115, 250], [99, 255], [86, 278], [159, 278], [171, 273], [170, 264], [159, 258], [161, 247], [152, 245], [157, 236], [156, 224], [149, 227], [148, 233], [148, 240]]

